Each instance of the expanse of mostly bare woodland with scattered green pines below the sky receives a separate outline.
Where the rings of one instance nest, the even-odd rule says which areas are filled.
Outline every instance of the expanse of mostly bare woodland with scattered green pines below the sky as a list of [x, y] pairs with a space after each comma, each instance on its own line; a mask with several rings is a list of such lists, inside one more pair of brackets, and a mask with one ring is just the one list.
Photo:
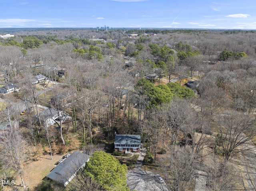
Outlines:
[[[20, 89], [0, 98], [0, 179], [27, 190], [28, 164], [72, 150], [112, 153], [116, 132], [141, 135], [170, 191], [195, 190], [198, 176], [207, 191], [255, 190], [255, 39], [245, 30], [131, 29], [0, 38], [1, 88]], [[84, 190], [112, 190], [87, 173], [78, 176]]]

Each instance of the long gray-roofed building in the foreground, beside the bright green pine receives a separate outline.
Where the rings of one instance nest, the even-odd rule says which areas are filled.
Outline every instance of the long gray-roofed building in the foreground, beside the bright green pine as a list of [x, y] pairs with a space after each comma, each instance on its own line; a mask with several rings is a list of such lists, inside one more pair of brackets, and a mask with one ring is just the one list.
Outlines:
[[89, 161], [89, 155], [74, 151], [64, 161], [60, 162], [46, 177], [64, 184], [68, 183], [76, 176], [76, 172], [83, 168]]

